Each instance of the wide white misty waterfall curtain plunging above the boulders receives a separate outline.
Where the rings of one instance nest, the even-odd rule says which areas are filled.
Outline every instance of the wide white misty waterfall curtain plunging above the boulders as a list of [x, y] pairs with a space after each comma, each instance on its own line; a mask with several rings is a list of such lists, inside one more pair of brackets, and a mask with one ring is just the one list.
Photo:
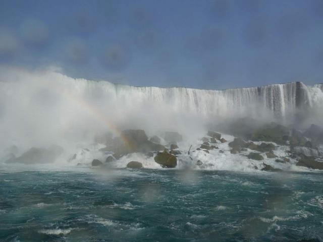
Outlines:
[[80, 140], [89, 130], [101, 132], [106, 127], [179, 130], [186, 126], [186, 130], [196, 130], [199, 123], [214, 123], [218, 118], [258, 118], [264, 114], [265, 120], [289, 123], [293, 122], [290, 117], [299, 119], [299, 113], [306, 113], [303, 116], [311, 117], [309, 122], [319, 125], [321, 110], [323, 84], [292, 82], [201, 90], [135, 87], [74, 79], [57, 72], [0, 70], [2, 143], [17, 143], [21, 137], [25, 143], [42, 143], [45, 135], [49, 141], [52, 137]]

